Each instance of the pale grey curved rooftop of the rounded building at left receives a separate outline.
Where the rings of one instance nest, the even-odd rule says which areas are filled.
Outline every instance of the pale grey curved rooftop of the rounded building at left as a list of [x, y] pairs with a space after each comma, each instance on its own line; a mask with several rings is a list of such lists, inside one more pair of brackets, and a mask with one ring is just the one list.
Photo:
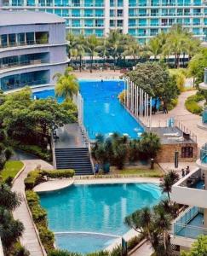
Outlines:
[[60, 16], [43, 12], [0, 11], [0, 26], [64, 23]]

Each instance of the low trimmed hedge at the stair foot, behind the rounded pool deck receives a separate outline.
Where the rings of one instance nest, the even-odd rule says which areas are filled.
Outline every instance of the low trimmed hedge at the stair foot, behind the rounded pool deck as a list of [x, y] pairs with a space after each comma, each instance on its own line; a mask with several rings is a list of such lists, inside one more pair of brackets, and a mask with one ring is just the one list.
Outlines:
[[28, 174], [25, 179], [26, 189], [33, 189], [37, 184], [45, 181], [45, 177], [60, 178], [60, 177], [73, 177], [74, 170], [59, 170], [59, 171], [45, 171], [35, 170]]

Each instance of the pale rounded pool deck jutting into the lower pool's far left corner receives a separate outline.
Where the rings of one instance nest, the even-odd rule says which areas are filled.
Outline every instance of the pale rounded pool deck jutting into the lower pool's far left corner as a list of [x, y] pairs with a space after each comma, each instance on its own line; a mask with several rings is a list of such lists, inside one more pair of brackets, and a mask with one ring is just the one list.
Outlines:
[[66, 189], [74, 183], [73, 179], [59, 179], [59, 180], [49, 180], [45, 183], [40, 183], [34, 187], [34, 191], [37, 193], [55, 191], [60, 189]]

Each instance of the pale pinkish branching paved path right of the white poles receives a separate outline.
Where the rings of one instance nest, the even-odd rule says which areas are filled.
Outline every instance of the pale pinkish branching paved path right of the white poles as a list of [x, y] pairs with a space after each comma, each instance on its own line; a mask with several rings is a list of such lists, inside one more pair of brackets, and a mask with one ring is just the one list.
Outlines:
[[207, 142], [207, 131], [198, 128], [198, 123], [201, 122], [201, 117], [190, 113], [185, 108], [185, 101], [188, 96], [192, 96], [196, 93], [195, 90], [190, 90], [181, 93], [178, 99], [177, 106], [171, 110], [168, 114], [157, 113], [152, 115], [152, 126], [159, 126], [166, 124], [166, 120], [170, 117], [174, 117], [176, 120], [181, 121], [183, 125], [190, 131], [193, 131], [197, 135], [198, 147], [200, 148], [204, 143]]

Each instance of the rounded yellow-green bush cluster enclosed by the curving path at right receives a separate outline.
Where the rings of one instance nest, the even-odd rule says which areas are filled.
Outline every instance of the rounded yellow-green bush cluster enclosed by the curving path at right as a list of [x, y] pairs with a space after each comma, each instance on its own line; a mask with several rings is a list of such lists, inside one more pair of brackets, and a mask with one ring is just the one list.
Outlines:
[[197, 93], [193, 96], [189, 96], [185, 102], [185, 106], [187, 110], [191, 113], [195, 114], [201, 114], [203, 111], [203, 108], [198, 105], [198, 102], [201, 102], [204, 100], [204, 95], [201, 93]]

